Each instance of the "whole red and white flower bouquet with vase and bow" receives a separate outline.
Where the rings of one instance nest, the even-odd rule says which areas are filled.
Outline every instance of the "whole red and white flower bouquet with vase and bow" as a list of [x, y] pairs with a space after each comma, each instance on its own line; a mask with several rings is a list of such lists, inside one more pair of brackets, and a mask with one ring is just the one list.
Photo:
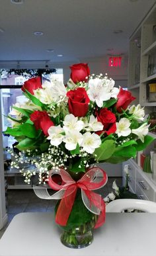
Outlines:
[[[87, 64], [71, 67], [67, 85], [40, 77], [22, 86], [25, 101], [16, 103], [8, 118], [15, 136], [13, 167], [21, 169], [25, 182], [38, 175], [34, 192], [57, 199], [56, 223], [63, 229], [61, 241], [69, 247], [85, 247], [93, 239], [93, 228], [105, 220], [104, 200], [93, 192], [103, 187], [106, 173], [96, 163], [119, 163], [136, 157], [153, 140], [149, 124], [130, 91], [114, 87], [107, 75], [90, 75]], [[52, 195], [47, 188], [58, 191]]]

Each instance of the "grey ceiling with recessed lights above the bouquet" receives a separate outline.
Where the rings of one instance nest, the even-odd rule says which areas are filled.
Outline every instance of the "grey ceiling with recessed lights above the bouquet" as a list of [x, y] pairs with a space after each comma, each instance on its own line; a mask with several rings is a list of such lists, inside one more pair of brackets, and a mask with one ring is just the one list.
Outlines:
[[[0, 0], [0, 68], [17, 61], [20, 66], [47, 62], [57, 67], [106, 54], [128, 54], [130, 35], [155, 2]], [[44, 34], [35, 36], [35, 31]]]

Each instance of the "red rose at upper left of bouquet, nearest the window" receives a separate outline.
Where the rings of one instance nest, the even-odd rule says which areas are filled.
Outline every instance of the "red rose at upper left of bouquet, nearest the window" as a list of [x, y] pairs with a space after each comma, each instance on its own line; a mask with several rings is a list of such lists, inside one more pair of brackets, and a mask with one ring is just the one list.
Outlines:
[[22, 91], [25, 91], [25, 89], [34, 95], [34, 91], [38, 88], [42, 88], [42, 83], [40, 77], [33, 77], [31, 79], [28, 79], [27, 81], [24, 82], [24, 85], [22, 85]]

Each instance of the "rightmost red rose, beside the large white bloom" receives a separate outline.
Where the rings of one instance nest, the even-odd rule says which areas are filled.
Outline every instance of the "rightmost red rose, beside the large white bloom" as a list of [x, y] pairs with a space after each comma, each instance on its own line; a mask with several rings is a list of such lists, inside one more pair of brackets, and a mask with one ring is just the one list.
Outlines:
[[132, 93], [130, 93], [130, 91], [126, 91], [122, 89], [122, 87], [120, 87], [117, 98], [118, 101], [116, 103], [116, 110], [120, 113], [122, 112], [122, 109], [126, 110], [128, 105], [130, 105], [130, 103], [136, 99], [132, 96]]

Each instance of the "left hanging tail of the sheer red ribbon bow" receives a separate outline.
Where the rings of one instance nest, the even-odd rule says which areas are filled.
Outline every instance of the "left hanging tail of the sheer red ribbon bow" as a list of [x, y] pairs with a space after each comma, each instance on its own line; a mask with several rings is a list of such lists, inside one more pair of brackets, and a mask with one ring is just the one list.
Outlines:
[[56, 212], [56, 223], [60, 226], [66, 226], [67, 220], [73, 208], [75, 196], [77, 193], [77, 187], [72, 193], [65, 191], [61, 202], [59, 202], [58, 210]]

